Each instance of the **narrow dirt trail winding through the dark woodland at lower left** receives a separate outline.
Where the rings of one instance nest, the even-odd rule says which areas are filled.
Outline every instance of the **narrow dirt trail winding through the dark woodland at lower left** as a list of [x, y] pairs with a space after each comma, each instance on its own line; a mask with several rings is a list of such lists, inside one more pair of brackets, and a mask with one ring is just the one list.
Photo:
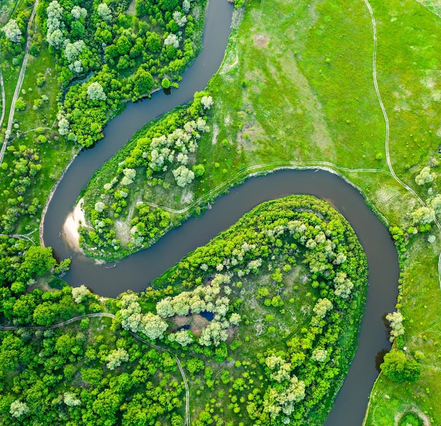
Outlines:
[[[73, 317], [70, 319], [66, 319], [66, 321], [57, 322], [56, 324], [52, 324], [49, 326], [4, 327], [4, 326], [0, 325], [0, 330], [1, 331], [13, 331], [13, 330], [18, 330], [18, 329], [28, 329], [28, 330], [58, 329], [58, 328], [63, 327], [67, 324], [71, 324], [72, 322], [80, 321], [80, 319], [101, 318], [101, 317], [108, 317], [108, 318], [115, 319], [115, 315], [113, 315], [109, 312], [99, 312], [97, 314], [86, 314], [86, 315], [82, 315], [80, 317]], [[161, 346], [154, 345], [153, 343], [149, 343], [149, 341], [147, 341], [146, 339], [143, 339], [141, 336], [139, 336], [139, 334], [134, 333], [133, 331], [130, 331], [130, 334], [132, 334], [132, 336], [135, 337], [135, 339], [142, 341], [142, 343], [145, 343], [147, 346], [150, 346], [151, 348], [155, 348], [156, 350], [161, 351], [161, 352], [168, 352], [170, 355], [173, 356], [173, 358], [175, 358], [176, 364], [178, 365], [180, 374], [182, 376], [182, 381], [184, 382], [184, 387], [185, 387], [185, 424], [187, 426], [190, 426], [190, 391], [188, 389], [187, 377], [185, 377], [185, 372], [184, 372], [184, 369], [182, 368], [182, 365], [180, 363], [179, 358], [175, 354], [168, 351], [168, 349], [161, 348]]]

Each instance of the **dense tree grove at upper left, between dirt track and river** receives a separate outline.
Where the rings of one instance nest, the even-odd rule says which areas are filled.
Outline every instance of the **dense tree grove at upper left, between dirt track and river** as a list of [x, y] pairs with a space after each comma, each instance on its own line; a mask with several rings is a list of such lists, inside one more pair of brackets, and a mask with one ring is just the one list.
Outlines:
[[[200, 3], [203, 6], [204, 1]], [[186, 31], [187, 16], [175, 10], [178, 0], [136, 1], [136, 18], [125, 12], [124, 2], [82, 6], [54, 0], [46, 4], [42, 18], [46, 42], [60, 68], [59, 80], [66, 86], [58, 109], [60, 134], [89, 147], [102, 138], [102, 128], [125, 102], [150, 95], [166, 74], [180, 78], [194, 57], [194, 46], [200, 44], [196, 37], [201, 32], [194, 31], [194, 22]], [[199, 27], [203, 19], [200, 13]], [[180, 39], [168, 34], [173, 23], [172, 30], [182, 32]], [[73, 80], [90, 73], [87, 81]]]

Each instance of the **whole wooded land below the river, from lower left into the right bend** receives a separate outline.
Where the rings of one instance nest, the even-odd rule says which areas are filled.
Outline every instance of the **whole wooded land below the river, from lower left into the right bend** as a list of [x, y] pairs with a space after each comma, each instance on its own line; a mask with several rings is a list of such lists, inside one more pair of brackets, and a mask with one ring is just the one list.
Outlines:
[[[136, 335], [185, 365], [194, 425], [320, 425], [354, 355], [366, 256], [314, 197], [256, 207], [141, 295], [105, 303], [58, 279], [49, 286], [60, 290], [32, 290], [56, 266], [50, 249], [2, 250], [1, 322], [19, 327], [1, 333], [0, 408], [11, 424], [182, 425], [173, 355]], [[97, 332], [86, 317], [26, 328], [102, 311], [116, 317]]]

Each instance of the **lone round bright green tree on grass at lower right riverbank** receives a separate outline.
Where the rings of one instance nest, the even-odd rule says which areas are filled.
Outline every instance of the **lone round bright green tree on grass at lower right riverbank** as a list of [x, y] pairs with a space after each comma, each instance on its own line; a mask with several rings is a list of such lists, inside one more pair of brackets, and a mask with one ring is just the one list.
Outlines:
[[414, 358], [409, 358], [403, 351], [395, 349], [386, 353], [380, 369], [393, 382], [416, 382], [421, 373], [421, 365]]

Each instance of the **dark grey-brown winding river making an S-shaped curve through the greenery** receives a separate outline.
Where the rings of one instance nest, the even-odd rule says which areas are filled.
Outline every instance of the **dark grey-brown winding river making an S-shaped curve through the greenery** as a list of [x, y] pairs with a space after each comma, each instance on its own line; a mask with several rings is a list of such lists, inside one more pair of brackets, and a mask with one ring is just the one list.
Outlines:
[[395, 310], [399, 274], [397, 252], [385, 226], [366, 206], [363, 197], [341, 178], [325, 171], [276, 171], [250, 178], [228, 195], [220, 197], [199, 219], [190, 219], [168, 233], [154, 247], [113, 264], [95, 264], [72, 252], [61, 238], [61, 229], [75, 205], [80, 190], [94, 171], [115, 154], [144, 123], [192, 99], [216, 73], [230, 34], [232, 6], [226, 0], [211, 0], [206, 11], [204, 49], [183, 75], [181, 88], [171, 96], [162, 92], [150, 100], [130, 104], [106, 126], [106, 137], [92, 150], [83, 150], [61, 180], [46, 213], [44, 243], [58, 258], [73, 257], [66, 281], [85, 284], [102, 296], [117, 296], [130, 288], [141, 291], [156, 276], [200, 245], [206, 244], [259, 203], [290, 194], [311, 194], [330, 202], [352, 224], [368, 256], [369, 289], [366, 315], [361, 325], [359, 348], [349, 375], [328, 416], [326, 426], [361, 425], [368, 395], [378, 371], [375, 359], [390, 348], [383, 322]]

